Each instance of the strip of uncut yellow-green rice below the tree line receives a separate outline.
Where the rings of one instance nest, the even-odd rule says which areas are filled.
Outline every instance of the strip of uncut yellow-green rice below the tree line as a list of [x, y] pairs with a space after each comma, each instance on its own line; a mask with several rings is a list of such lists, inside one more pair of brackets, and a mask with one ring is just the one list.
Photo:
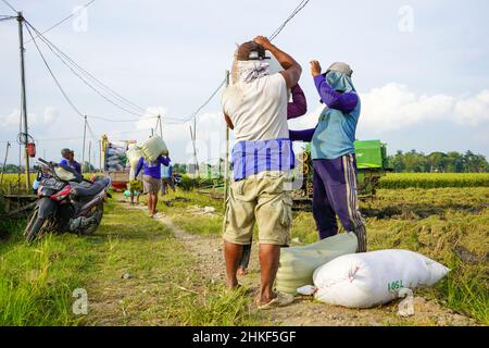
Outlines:
[[380, 179], [380, 188], [489, 187], [489, 173], [392, 173]]

